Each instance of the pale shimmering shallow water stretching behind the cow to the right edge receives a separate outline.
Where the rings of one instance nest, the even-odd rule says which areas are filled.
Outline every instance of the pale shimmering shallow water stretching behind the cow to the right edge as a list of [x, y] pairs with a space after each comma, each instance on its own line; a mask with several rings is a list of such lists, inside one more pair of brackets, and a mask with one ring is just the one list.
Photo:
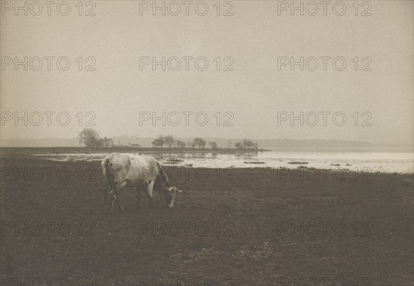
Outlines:
[[[106, 153], [92, 154], [39, 154], [53, 161], [101, 161]], [[157, 153], [154, 156], [161, 165], [186, 167], [288, 167], [288, 168], [343, 168], [372, 172], [414, 172], [413, 153], [368, 152], [189, 152]]]

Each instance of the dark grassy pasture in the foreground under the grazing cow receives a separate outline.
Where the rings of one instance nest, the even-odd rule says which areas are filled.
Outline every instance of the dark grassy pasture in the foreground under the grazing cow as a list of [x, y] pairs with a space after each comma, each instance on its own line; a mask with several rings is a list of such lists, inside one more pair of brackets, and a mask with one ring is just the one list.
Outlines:
[[412, 175], [176, 169], [172, 210], [120, 213], [98, 162], [1, 165], [1, 285], [414, 285]]

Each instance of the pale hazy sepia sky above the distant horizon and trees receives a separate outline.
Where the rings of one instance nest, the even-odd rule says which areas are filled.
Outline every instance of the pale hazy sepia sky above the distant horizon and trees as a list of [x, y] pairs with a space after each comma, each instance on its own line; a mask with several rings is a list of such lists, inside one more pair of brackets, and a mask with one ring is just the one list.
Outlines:
[[[39, 126], [19, 125], [5, 121], [1, 126], [3, 138], [26, 137], [70, 137], [76, 136], [84, 127], [86, 112], [94, 112], [95, 128], [101, 136], [157, 136], [174, 134], [179, 137], [223, 137], [250, 139], [344, 139], [368, 141], [371, 143], [412, 143], [413, 142], [413, 1], [371, 1], [372, 7], [361, 6], [358, 16], [351, 6], [354, 1], [344, 1], [346, 12], [338, 16], [333, 5], [323, 6], [319, 13], [304, 16], [290, 9], [279, 10], [277, 1], [232, 1], [233, 16], [217, 16], [216, 1], [205, 1], [208, 13], [199, 16], [195, 3], [186, 16], [181, 1], [181, 13], [166, 16], [161, 11], [152, 15], [152, 10], [143, 10], [140, 15], [139, 1], [94, 1], [95, 16], [79, 16], [78, 1], [68, 1], [70, 13], [61, 16], [56, 5], [48, 16], [47, 6], [43, 12], [33, 16], [14, 15], [9, 3], [1, 1], [1, 112], [55, 112], [51, 126], [46, 114]], [[21, 6], [25, 1], [19, 1]], [[43, 1], [40, 1], [43, 3]], [[56, 1], [55, 3], [59, 3]], [[152, 1], [148, 2], [152, 5]], [[157, 2], [159, 6], [162, 1]], [[167, 6], [169, 1], [165, 2]], [[290, 1], [286, 2], [290, 4]], [[299, 6], [300, 1], [297, 1]], [[304, 5], [307, 2], [304, 2]], [[317, 1], [319, 3], [319, 1]], [[335, 1], [331, 2], [335, 3]], [[84, 2], [86, 5], [86, 3]], [[29, 4], [28, 4], [29, 5]], [[92, 7], [83, 6], [82, 14]], [[142, 5], [142, 4], [141, 4]], [[279, 5], [282, 5], [279, 3]], [[61, 11], [66, 8], [61, 6]], [[221, 2], [220, 14], [231, 8]], [[282, 6], [283, 8], [283, 6]], [[313, 12], [308, 6], [308, 12]], [[369, 9], [371, 16], [360, 14]], [[32, 12], [38, 8], [32, 6]], [[176, 6], [170, 5], [170, 12]], [[200, 4], [197, 12], [204, 10]], [[342, 8], [337, 7], [336, 12]], [[23, 57], [68, 57], [70, 68], [61, 71], [56, 59], [52, 60], [48, 71], [47, 60], [43, 68], [34, 71], [23, 65], [14, 70], [14, 63], [6, 65], [10, 58]], [[82, 71], [76, 61], [83, 57]], [[87, 57], [96, 59], [95, 71], [85, 71]], [[189, 70], [185, 70], [185, 59], [181, 59], [178, 71], [152, 70], [152, 65], [139, 68], [140, 57], [205, 57], [208, 68], [199, 71], [195, 60], [190, 60]], [[215, 59], [220, 57], [220, 71]], [[230, 57], [224, 61], [225, 57]], [[332, 59], [323, 70], [323, 60], [319, 68], [310, 71], [304, 67], [290, 70], [290, 65], [278, 70], [278, 57], [343, 57], [346, 68], [337, 71]], [[358, 71], [352, 61], [358, 57]], [[369, 57], [364, 59], [363, 57]], [[233, 71], [223, 71], [230, 63]], [[361, 71], [371, 59], [371, 71]], [[217, 61], [217, 60], [216, 60]], [[34, 68], [38, 61], [32, 60]], [[64, 67], [64, 61], [61, 62]], [[202, 68], [203, 62], [199, 61]], [[308, 66], [315, 63], [310, 60]], [[176, 61], [170, 65], [175, 67]], [[337, 62], [340, 68], [341, 62]], [[57, 123], [56, 114], [68, 112], [71, 121], [66, 126]], [[79, 126], [76, 115], [82, 112], [83, 122]], [[181, 114], [181, 123], [171, 126], [156, 126], [151, 121], [139, 125], [140, 112], [206, 112], [208, 123], [199, 126], [194, 114]], [[221, 112], [220, 125], [214, 116]], [[233, 126], [222, 126], [230, 116]], [[327, 116], [327, 126], [319, 114], [319, 123], [310, 126], [299, 125], [295, 121], [277, 123], [278, 112], [331, 112]], [[344, 112], [346, 123], [337, 126], [332, 114]], [[359, 112], [358, 126], [355, 117]], [[369, 112], [371, 126], [361, 126]], [[216, 115], [217, 116], [217, 115]], [[355, 116], [355, 115], [354, 115]], [[88, 117], [91, 118], [91, 117]], [[61, 117], [64, 123], [65, 117]], [[308, 119], [313, 122], [314, 117]], [[34, 123], [37, 117], [32, 116]], [[170, 116], [172, 123], [176, 117]], [[204, 121], [199, 116], [199, 123]], [[337, 122], [342, 117], [337, 117]]]

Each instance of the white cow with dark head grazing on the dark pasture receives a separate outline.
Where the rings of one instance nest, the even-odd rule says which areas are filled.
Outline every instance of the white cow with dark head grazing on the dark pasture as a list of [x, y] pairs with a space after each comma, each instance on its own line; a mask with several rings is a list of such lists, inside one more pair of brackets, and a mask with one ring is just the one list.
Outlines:
[[165, 202], [166, 207], [172, 207], [177, 192], [182, 192], [177, 190], [177, 187], [170, 186], [161, 165], [152, 156], [112, 153], [103, 159], [101, 168], [105, 185], [103, 198], [106, 203], [108, 201], [109, 187], [109, 194], [112, 198], [110, 203], [111, 210], [114, 203], [117, 203], [119, 210], [124, 211], [121, 203], [119, 203], [119, 190], [122, 187], [135, 187], [137, 209], [139, 209], [141, 191], [146, 192], [150, 208], [153, 207], [153, 190], [158, 192], [161, 203], [164, 204]]

